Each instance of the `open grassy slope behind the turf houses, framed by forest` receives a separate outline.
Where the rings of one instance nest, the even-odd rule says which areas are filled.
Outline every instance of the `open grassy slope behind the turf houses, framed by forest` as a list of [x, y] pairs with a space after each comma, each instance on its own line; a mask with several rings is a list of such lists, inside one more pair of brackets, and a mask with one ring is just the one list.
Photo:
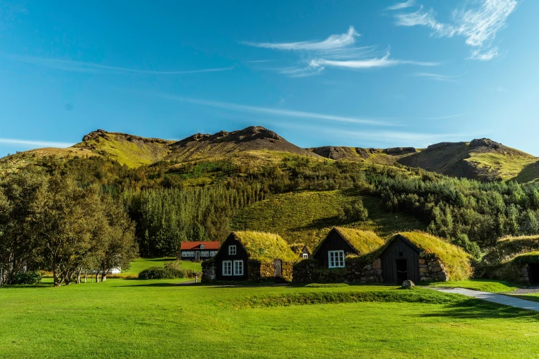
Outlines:
[[[235, 230], [261, 230], [281, 235], [288, 243], [305, 243], [313, 248], [333, 226], [340, 226], [339, 208], [357, 198], [352, 190], [303, 191], [274, 195], [247, 206], [233, 218]], [[348, 224], [352, 228], [372, 230], [388, 238], [394, 232], [425, 229], [421, 222], [405, 214], [385, 212], [376, 197], [363, 196], [368, 220]]]

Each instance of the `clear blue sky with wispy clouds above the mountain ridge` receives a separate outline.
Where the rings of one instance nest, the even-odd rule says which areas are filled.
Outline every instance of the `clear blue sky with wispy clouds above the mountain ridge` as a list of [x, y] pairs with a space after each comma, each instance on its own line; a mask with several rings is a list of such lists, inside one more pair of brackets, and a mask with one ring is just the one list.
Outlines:
[[[129, 5], [128, 5], [129, 4]], [[299, 146], [539, 155], [539, 1], [3, 1], [0, 155], [259, 124]]]

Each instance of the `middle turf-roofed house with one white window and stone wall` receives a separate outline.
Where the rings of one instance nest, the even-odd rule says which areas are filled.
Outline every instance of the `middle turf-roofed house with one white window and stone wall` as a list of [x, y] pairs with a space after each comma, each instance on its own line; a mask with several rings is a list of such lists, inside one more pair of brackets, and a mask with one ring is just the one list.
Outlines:
[[332, 228], [310, 259], [294, 266], [294, 282], [381, 283], [381, 263], [377, 252], [384, 244], [383, 239], [368, 230]]

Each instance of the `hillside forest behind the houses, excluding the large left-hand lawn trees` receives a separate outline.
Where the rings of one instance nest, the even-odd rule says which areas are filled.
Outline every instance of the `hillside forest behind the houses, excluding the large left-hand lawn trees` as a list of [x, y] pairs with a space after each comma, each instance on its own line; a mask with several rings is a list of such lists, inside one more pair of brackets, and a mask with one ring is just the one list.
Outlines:
[[[89, 157], [44, 158], [37, 167], [45, 168], [51, 178], [72, 178], [81, 191], [99, 187], [101, 196], [123, 203], [136, 225], [140, 252], [147, 256], [175, 254], [182, 241], [222, 239], [237, 209], [269, 195], [352, 187], [362, 195], [379, 197], [388, 212], [421, 219], [434, 235], [474, 255], [478, 244], [489, 246], [498, 237], [539, 233], [536, 184], [455, 179], [400, 165], [289, 156], [280, 163], [253, 168], [230, 160], [127, 168], [103, 157]], [[190, 185], [191, 179], [204, 176], [212, 178], [210, 185]], [[30, 189], [38, 185], [27, 184]], [[338, 211], [341, 221], [363, 220], [368, 215], [359, 198]]]

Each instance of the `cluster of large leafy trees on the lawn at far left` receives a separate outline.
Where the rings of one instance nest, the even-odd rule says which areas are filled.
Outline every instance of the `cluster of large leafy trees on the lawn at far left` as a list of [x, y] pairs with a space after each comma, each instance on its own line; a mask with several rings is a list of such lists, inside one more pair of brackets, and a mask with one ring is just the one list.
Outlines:
[[99, 186], [29, 167], [0, 182], [0, 273], [10, 283], [26, 270], [50, 270], [54, 285], [81, 273], [129, 268], [138, 255], [134, 223]]

